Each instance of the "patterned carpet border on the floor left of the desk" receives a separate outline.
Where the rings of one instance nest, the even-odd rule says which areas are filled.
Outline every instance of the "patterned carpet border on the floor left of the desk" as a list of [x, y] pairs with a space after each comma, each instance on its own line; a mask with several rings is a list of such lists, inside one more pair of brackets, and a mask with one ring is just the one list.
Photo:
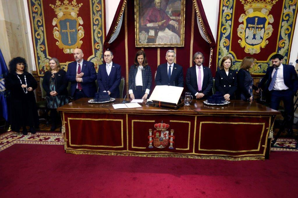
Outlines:
[[52, 144], [64, 145], [62, 133], [29, 133], [23, 135], [16, 132], [6, 132], [0, 136], [0, 151], [12, 146], [13, 144]]

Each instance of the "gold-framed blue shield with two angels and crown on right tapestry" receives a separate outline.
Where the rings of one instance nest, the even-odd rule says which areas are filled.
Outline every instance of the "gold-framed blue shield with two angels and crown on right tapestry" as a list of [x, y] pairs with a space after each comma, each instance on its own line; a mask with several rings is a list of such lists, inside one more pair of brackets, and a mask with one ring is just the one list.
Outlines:
[[269, 12], [272, 6], [278, 0], [240, 0], [244, 5], [245, 14], [241, 14], [237, 32], [241, 40], [238, 41], [245, 52], [249, 54], [258, 54], [261, 48], [268, 44], [268, 38], [271, 36], [274, 19]]

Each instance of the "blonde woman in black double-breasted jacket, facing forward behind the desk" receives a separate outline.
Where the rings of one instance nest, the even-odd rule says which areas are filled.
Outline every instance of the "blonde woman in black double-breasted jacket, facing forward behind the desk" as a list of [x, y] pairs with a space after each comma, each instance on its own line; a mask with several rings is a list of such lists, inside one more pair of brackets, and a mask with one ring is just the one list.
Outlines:
[[216, 71], [215, 89], [224, 95], [225, 100], [235, 100], [235, 91], [237, 90], [237, 74], [231, 70], [231, 56], [225, 56], [221, 61], [220, 70]]

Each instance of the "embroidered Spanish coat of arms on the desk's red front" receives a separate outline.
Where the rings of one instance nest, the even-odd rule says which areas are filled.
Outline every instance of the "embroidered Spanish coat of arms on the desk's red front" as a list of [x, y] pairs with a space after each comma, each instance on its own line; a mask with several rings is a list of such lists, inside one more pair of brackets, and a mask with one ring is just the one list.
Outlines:
[[[165, 124], [165, 123], [158, 123], [154, 125], [154, 128], [156, 128], [155, 131], [153, 131], [153, 135], [152, 135], [152, 129], [149, 129], [149, 146], [148, 148], [153, 148], [153, 145], [156, 148], [165, 148], [167, 147], [167, 145], [170, 142], [170, 146], [169, 149], [174, 149], [173, 145], [174, 145], [174, 139], [175, 136], [173, 136], [174, 130], [171, 129], [171, 131], [169, 132], [167, 129], [170, 127], [170, 125]], [[171, 133], [171, 134], [169, 134]], [[152, 139], [153, 138], [153, 139]]]

